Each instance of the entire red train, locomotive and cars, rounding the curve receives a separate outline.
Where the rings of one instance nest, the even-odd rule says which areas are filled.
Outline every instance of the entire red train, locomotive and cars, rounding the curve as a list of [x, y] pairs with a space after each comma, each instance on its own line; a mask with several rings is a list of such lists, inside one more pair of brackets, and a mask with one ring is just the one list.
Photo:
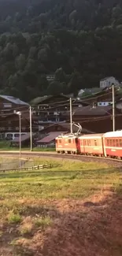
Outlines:
[[57, 154], [122, 159], [122, 130], [99, 134], [65, 134], [55, 139]]

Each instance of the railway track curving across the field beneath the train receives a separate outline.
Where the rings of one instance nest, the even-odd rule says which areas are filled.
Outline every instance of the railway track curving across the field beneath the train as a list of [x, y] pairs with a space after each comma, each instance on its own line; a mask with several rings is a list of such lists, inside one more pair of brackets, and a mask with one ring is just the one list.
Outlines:
[[[1, 156], [18, 156], [20, 154], [19, 151], [0, 151]], [[113, 158], [101, 158], [95, 156], [86, 156], [86, 155], [70, 155], [70, 154], [57, 154], [56, 152], [30, 152], [30, 151], [22, 151], [21, 156], [23, 157], [48, 157], [48, 158], [63, 158], [63, 159], [72, 159], [79, 160], [85, 162], [102, 162], [108, 164], [110, 166], [122, 168], [122, 160], [113, 159]]]

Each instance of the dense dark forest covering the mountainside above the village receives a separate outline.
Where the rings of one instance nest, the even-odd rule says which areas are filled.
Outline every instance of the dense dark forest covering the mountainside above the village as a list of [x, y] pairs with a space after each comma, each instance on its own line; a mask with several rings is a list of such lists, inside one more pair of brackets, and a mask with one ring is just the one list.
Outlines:
[[0, 0], [1, 94], [76, 94], [121, 69], [121, 0]]

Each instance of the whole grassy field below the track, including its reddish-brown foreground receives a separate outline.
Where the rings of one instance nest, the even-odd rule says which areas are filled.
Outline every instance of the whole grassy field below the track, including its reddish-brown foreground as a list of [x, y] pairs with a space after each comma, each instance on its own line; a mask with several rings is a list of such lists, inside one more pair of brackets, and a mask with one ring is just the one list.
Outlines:
[[120, 256], [121, 173], [64, 160], [0, 173], [0, 255]]

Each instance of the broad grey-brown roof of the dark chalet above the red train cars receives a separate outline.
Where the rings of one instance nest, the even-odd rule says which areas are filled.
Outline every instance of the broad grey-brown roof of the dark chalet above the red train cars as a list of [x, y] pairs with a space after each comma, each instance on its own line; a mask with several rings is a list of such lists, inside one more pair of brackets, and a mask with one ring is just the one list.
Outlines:
[[[73, 109], [72, 116], [105, 116], [109, 115], [109, 111], [112, 110], [112, 106], [84, 106]], [[69, 112], [67, 112], [69, 115]]]

